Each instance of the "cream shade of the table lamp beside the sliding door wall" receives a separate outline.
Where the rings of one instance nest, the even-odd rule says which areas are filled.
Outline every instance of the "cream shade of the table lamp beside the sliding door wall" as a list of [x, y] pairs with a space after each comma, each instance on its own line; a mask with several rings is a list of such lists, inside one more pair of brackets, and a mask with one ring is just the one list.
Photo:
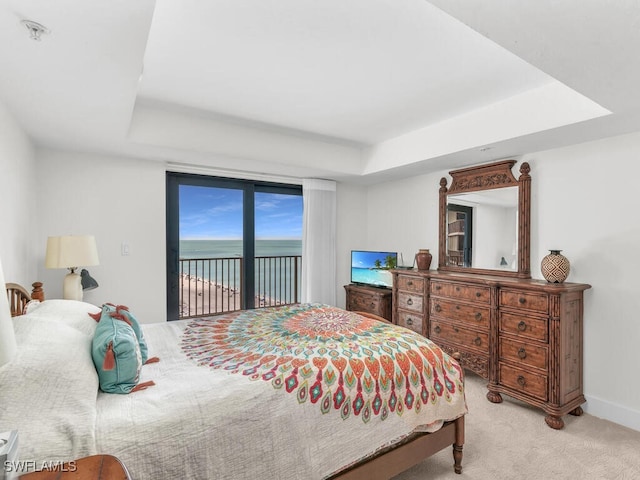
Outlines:
[[65, 235], [47, 239], [44, 265], [47, 268], [78, 268], [98, 265], [98, 248], [93, 235]]

